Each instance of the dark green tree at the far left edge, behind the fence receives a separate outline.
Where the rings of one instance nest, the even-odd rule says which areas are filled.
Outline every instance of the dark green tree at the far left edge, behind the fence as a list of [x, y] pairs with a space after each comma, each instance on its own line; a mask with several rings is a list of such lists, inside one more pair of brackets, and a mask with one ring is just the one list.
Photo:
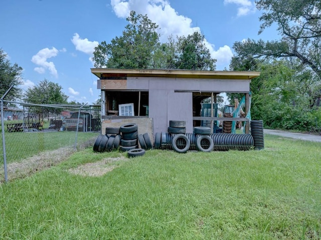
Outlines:
[[11, 64], [7, 59], [7, 54], [0, 48], [0, 97], [5, 94], [10, 86], [13, 86], [13, 88], [5, 99], [15, 101], [21, 97], [22, 89], [19, 85], [22, 84], [22, 70], [23, 68], [18, 66], [17, 63]]

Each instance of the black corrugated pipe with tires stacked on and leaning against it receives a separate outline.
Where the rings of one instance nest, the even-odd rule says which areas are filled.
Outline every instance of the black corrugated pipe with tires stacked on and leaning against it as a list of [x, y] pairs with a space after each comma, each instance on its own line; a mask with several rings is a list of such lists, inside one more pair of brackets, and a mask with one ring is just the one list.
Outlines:
[[156, 132], [154, 141], [156, 149], [173, 149], [181, 153], [188, 150], [249, 150], [252, 147], [251, 134], [212, 133], [210, 127], [204, 126], [194, 127], [193, 133], [186, 133], [185, 121], [175, 120], [170, 121], [168, 132]]

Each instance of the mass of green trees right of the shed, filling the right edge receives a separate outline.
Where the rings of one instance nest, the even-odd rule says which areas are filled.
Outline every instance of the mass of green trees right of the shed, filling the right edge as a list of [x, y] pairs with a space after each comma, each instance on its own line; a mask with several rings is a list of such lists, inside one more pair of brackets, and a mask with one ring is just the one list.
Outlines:
[[256, 0], [256, 5], [263, 12], [259, 33], [276, 24], [281, 38], [233, 45], [231, 70], [261, 72], [250, 83], [252, 119], [274, 128], [320, 131], [321, 2]]

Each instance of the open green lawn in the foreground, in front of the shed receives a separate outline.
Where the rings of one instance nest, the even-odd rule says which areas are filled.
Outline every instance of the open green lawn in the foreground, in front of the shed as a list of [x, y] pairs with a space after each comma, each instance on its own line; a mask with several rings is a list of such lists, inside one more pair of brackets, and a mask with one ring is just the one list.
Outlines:
[[[0, 185], [0, 239], [319, 239], [320, 156], [272, 135], [250, 151], [87, 148]], [[104, 175], [69, 171], [102, 159]]]

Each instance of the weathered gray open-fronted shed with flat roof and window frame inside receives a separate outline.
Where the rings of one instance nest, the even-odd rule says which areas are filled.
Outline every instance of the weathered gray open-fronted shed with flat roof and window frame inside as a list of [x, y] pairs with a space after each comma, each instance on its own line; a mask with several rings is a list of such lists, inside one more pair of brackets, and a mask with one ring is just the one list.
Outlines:
[[187, 132], [193, 132], [200, 120], [224, 120], [200, 115], [201, 101], [211, 97], [216, 102], [222, 92], [244, 93], [247, 113], [251, 79], [260, 75], [257, 71], [182, 69], [91, 68], [91, 72], [99, 78], [102, 122], [144, 117], [152, 119], [153, 132], [167, 131], [170, 120], [185, 120]]

